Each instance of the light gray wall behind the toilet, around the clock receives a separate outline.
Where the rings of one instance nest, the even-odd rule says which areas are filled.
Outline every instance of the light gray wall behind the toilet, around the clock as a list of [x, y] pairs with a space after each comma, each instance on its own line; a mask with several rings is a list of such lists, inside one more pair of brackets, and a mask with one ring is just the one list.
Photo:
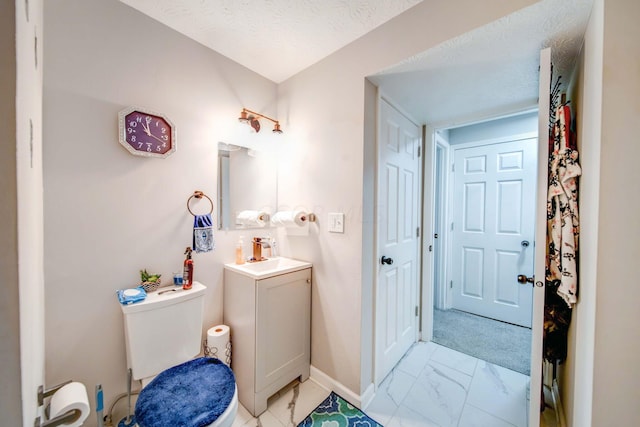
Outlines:
[[[136, 286], [142, 268], [170, 283], [191, 244], [187, 199], [202, 190], [216, 201], [218, 141], [241, 142], [228, 138], [242, 107], [275, 115], [276, 86], [117, 0], [44, 9], [47, 382], [73, 378], [90, 394], [102, 383], [108, 405], [126, 391], [116, 290]], [[118, 143], [118, 111], [131, 105], [173, 121], [172, 156]], [[238, 236], [216, 232], [216, 250], [194, 254], [208, 288], [203, 335], [222, 322], [223, 263]]]

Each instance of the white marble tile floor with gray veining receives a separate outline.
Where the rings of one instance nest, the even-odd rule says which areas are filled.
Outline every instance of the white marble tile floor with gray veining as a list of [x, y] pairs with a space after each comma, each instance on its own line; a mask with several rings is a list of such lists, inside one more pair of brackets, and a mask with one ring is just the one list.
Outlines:
[[[413, 345], [364, 411], [384, 427], [526, 427], [529, 377], [433, 342]], [[233, 427], [295, 427], [329, 394], [294, 382]]]

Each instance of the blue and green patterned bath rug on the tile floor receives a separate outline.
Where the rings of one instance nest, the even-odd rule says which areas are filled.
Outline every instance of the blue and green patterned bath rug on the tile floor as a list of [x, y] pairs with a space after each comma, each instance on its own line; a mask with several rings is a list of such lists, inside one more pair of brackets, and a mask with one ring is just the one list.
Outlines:
[[298, 427], [383, 427], [364, 412], [331, 392]]

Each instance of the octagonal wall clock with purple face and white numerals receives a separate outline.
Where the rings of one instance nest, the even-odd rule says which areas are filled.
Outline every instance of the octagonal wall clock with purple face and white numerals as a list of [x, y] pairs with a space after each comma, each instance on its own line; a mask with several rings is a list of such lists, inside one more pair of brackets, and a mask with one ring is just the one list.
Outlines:
[[118, 113], [118, 140], [131, 154], [164, 159], [176, 151], [176, 128], [160, 113], [128, 107]]

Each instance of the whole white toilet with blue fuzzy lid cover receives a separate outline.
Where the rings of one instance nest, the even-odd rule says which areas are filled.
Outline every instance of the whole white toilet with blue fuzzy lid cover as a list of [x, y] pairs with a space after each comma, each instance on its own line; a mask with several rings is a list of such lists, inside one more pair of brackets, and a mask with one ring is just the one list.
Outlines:
[[230, 427], [238, 410], [231, 369], [197, 357], [201, 349], [205, 286], [160, 288], [144, 301], [122, 305], [127, 367], [142, 382], [135, 408], [139, 427]]

